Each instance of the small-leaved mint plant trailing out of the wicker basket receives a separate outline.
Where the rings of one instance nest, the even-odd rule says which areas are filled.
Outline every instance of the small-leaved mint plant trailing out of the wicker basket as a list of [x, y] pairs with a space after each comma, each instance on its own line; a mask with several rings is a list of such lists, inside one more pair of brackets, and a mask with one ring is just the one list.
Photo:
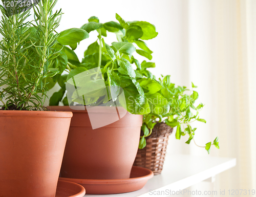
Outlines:
[[[204, 105], [200, 103], [195, 106], [195, 102], [198, 99], [198, 93], [195, 91], [197, 86], [192, 83], [191, 90], [185, 86], [175, 86], [174, 83], [170, 82], [169, 75], [159, 78], [158, 83], [161, 85], [161, 90], [157, 94], [169, 103], [170, 108], [167, 113], [152, 112], [144, 115], [141, 127], [144, 135], [140, 139], [139, 148], [142, 149], [146, 146], [145, 138], [151, 135], [154, 126], [158, 122], [164, 122], [173, 128], [177, 127], [176, 139], [180, 140], [181, 136], [188, 135], [189, 138], [186, 143], [190, 144], [193, 140], [196, 144], [194, 137], [197, 128], [192, 128], [190, 124], [195, 121], [206, 123], [204, 119], [199, 117], [199, 112]], [[185, 92], [188, 92], [188, 94]], [[205, 148], [209, 154], [212, 145], [219, 148], [218, 137], [213, 143], [209, 142], [205, 146], [197, 146]]]

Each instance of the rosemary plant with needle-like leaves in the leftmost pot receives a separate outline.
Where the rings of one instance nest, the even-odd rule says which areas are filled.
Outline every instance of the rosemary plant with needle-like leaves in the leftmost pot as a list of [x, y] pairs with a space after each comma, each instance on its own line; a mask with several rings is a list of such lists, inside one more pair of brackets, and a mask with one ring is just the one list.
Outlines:
[[[61, 10], [53, 12], [57, 0], [41, 0], [30, 11], [7, 13], [0, 6], [2, 20], [0, 42], [0, 104], [3, 110], [41, 110], [46, 98], [46, 78], [54, 76], [56, 51], [51, 49], [58, 38]], [[17, 8], [15, 8], [17, 9]], [[15, 10], [13, 9], [13, 12]]]

